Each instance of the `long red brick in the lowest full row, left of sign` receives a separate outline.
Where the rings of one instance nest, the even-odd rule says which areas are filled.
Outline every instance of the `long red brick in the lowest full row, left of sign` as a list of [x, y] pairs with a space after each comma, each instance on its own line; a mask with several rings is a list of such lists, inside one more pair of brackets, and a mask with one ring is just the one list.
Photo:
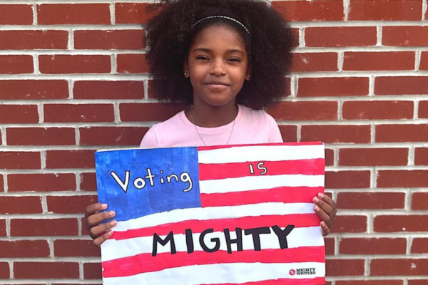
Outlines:
[[16, 279], [78, 279], [77, 262], [14, 262]]

